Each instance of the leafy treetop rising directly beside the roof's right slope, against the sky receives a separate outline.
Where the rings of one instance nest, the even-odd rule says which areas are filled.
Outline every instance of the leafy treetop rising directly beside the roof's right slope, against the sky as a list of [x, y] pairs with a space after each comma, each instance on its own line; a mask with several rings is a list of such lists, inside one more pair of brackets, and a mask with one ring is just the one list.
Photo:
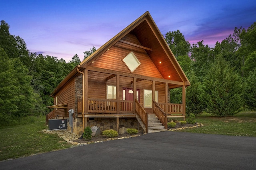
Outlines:
[[190, 53], [191, 45], [185, 40], [180, 30], [166, 33], [165, 40], [175, 57]]

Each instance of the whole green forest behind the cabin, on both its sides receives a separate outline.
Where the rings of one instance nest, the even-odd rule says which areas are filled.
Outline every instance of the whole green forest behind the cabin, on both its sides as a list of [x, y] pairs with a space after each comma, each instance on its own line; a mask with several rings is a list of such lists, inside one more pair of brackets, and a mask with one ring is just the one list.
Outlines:
[[[0, 25], [0, 124], [28, 115], [49, 113], [50, 93], [81, 61], [77, 54], [66, 62], [37, 54], [19, 36], [11, 35], [4, 20]], [[242, 107], [256, 108], [256, 22], [234, 33], [214, 48], [204, 41], [190, 44], [177, 30], [165, 40], [188, 76], [186, 113], [207, 111], [217, 116], [234, 115]], [[84, 59], [96, 51], [84, 51]], [[181, 89], [172, 89], [171, 102], [182, 101]]]

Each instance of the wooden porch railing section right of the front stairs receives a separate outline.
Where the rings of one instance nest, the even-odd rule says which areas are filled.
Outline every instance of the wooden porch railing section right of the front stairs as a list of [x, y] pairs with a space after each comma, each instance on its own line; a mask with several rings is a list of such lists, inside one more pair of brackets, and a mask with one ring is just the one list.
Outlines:
[[158, 103], [158, 105], [168, 115], [182, 115], [183, 114], [183, 105], [182, 104], [167, 103], [167, 111], [166, 111], [165, 103]]

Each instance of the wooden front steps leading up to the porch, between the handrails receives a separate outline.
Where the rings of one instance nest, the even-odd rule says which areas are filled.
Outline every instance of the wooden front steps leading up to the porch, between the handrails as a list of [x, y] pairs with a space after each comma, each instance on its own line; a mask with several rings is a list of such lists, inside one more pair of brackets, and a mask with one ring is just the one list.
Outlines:
[[166, 131], [163, 124], [154, 114], [148, 115], [148, 133]]

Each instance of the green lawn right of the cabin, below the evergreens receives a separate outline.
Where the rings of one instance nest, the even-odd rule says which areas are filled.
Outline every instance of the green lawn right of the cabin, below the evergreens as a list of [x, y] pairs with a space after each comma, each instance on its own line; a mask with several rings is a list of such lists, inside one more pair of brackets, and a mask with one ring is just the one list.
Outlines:
[[202, 123], [204, 126], [180, 131], [256, 137], [256, 112], [238, 113], [230, 117], [214, 117], [204, 113], [196, 117], [196, 122]]

